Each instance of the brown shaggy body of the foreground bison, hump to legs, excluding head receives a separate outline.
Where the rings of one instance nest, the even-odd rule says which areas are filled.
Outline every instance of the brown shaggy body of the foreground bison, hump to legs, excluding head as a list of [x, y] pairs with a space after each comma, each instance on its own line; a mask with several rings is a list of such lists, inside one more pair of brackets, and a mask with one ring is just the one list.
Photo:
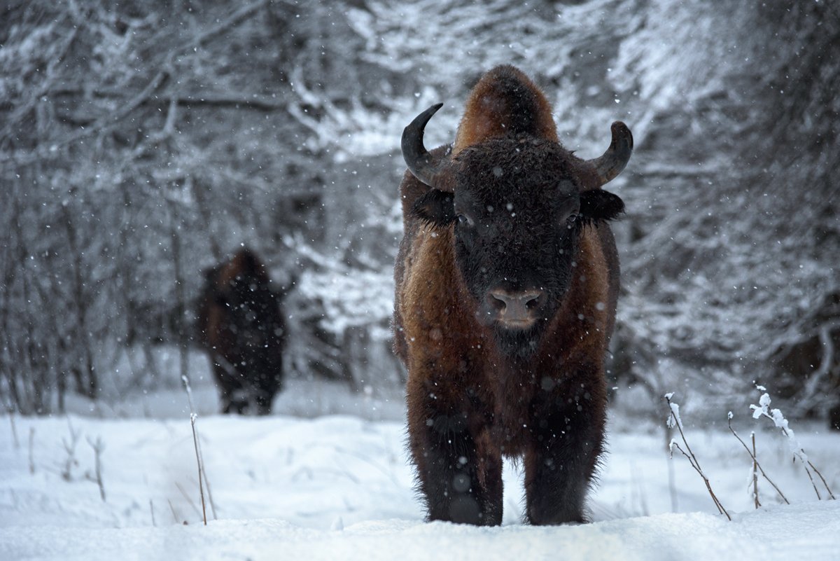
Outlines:
[[[500, 66], [470, 92], [451, 150], [511, 134], [558, 139], [543, 93], [521, 71]], [[596, 188], [591, 166], [569, 156], [580, 190]], [[529, 522], [583, 522], [602, 451], [604, 356], [618, 293], [609, 226], [582, 228], [569, 291], [536, 353], [517, 360], [476, 320], [456, 265], [454, 227], [435, 227], [412, 212], [430, 187], [407, 172], [400, 189], [395, 350], [408, 370], [408, 433], [429, 519], [501, 523], [504, 455], [524, 458]]]

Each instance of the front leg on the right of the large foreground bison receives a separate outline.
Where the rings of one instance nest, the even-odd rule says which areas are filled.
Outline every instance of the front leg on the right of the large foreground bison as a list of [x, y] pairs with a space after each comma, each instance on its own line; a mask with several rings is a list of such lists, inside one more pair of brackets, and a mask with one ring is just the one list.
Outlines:
[[528, 522], [585, 522], [584, 500], [603, 450], [605, 402], [581, 387], [538, 408], [525, 453]]

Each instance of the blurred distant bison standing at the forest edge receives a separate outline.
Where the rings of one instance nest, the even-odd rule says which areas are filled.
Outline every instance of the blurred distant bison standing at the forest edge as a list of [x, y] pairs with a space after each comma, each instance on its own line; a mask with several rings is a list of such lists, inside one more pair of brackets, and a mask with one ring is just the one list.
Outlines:
[[281, 295], [249, 249], [205, 271], [200, 338], [213, 364], [225, 413], [266, 415], [283, 382], [286, 324]]

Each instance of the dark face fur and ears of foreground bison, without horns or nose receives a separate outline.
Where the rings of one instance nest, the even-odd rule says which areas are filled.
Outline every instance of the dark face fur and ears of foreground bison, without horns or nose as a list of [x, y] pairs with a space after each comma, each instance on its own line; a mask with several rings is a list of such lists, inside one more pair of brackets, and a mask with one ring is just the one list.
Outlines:
[[[452, 165], [454, 193], [428, 191], [414, 211], [435, 226], [454, 225], [455, 260], [479, 321], [502, 354], [528, 359], [569, 290], [581, 228], [617, 218], [624, 203], [608, 191], [581, 191], [574, 157], [529, 135], [477, 144]], [[496, 290], [540, 291], [535, 322], [495, 321], [487, 302]]]

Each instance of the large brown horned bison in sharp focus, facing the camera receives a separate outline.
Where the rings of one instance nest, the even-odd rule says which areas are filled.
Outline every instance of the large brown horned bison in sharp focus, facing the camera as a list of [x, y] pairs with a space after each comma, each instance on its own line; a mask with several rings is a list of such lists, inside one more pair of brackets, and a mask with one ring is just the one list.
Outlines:
[[551, 107], [512, 66], [470, 92], [454, 144], [428, 152], [430, 107], [402, 134], [395, 349], [429, 520], [501, 523], [502, 456], [524, 458], [528, 522], [583, 522], [603, 449], [604, 358], [618, 258], [602, 191], [633, 137], [604, 155], [559, 144]]

